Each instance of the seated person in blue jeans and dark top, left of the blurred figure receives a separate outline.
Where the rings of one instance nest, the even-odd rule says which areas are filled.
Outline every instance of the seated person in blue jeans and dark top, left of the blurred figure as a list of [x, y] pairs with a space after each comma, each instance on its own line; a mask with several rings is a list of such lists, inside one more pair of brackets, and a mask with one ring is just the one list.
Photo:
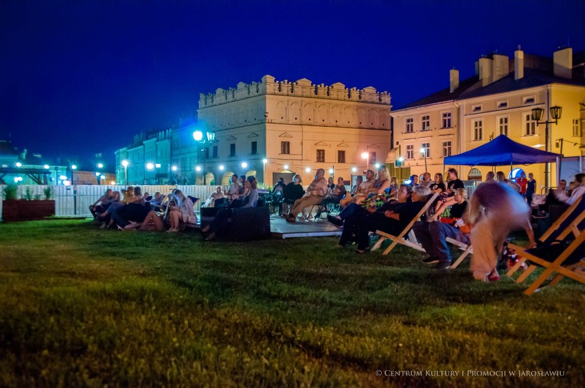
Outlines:
[[450, 237], [469, 245], [470, 228], [461, 219], [467, 209], [467, 191], [457, 189], [455, 200], [457, 204], [451, 208], [452, 223], [416, 221], [413, 230], [417, 240], [429, 257], [422, 260], [425, 264], [435, 264], [436, 269], [446, 269], [451, 265], [451, 251], [446, 238]]

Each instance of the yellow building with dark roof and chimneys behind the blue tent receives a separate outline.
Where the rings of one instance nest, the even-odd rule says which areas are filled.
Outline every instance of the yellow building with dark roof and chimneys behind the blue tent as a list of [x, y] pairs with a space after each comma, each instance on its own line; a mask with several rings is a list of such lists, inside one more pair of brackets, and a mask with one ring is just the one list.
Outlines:
[[[476, 62], [476, 75], [459, 82], [459, 71], [450, 71], [450, 87], [420, 101], [394, 110], [395, 158], [404, 158], [409, 172], [434, 174], [444, 171], [443, 158], [490, 141], [499, 134], [512, 140], [564, 154], [562, 178], [570, 178], [581, 167], [585, 148], [585, 51], [573, 55], [571, 48], [553, 53], [553, 58], [525, 54], [520, 48], [514, 59], [492, 54]], [[560, 106], [557, 123], [537, 125], [532, 109], [542, 108], [542, 121], [554, 121], [550, 108]], [[561, 149], [562, 147], [562, 149]], [[426, 155], [421, 149], [426, 150]], [[449, 166], [446, 166], [449, 167]], [[446, 168], [445, 167], [445, 168]], [[555, 186], [556, 166], [514, 166], [534, 173], [538, 186]], [[460, 178], [482, 180], [492, 167], [457, 166]], [[505, 167], [498, 167], [498, 170]], [[538, 191], [540, 192], [540, 187]]]

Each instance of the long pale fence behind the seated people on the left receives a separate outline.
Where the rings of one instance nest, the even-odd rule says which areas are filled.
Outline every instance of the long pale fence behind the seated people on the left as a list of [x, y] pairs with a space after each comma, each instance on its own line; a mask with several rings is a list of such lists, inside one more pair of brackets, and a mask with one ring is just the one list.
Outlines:
[[[2, 199], [4, 199], [3, 188], [0, 186], [0, 193]], [[125, 189], [126, 186], [111, 186], [111, 185], [76, 185], [76, 186], [44, 186], [44, 185], [30, 185], [30, 186], [18, 186], [18, 193], [16, 197], [18, 199], [25, 199], [27, 196], [27, 190], [33, 199], [45, 199], [45, 189], [51, 187], [53, 195], [51, 199], [55, 200], [55, 215], [58, 217], [91, 217], [89, 212], [89, 206], [93, 205], [102, 195], [104, 195], [107, 189], [113, 191], [120, 191]], [[205, 202], [205, 199], [209, 197], [217, 186], [203, 186], [203, 185], [144, 185], [140, 186], [142, 193], [148, 193], [154, 195], [157, 191], [163, 194], [170, 193], [173, 189], [179, 189], [183, 191], [183, 194], [191, 195], [192, 197], [200, 198], [195, 204], [195, 210], [198, 212], [201, 205]], [[227, 186], [222, 187], [227, 190]], [[0, 201], [0, 217], [2, 214], [2, 202]]]

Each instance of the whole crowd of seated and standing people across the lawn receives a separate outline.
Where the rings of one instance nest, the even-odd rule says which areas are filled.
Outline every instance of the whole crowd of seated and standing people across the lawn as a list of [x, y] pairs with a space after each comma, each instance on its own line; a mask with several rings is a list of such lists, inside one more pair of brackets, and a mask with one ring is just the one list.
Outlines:
[[[529, 246], [535, 245], [531, 213], [539, 208], [530, 206], [536, 193], [536, 181], [531, 173], [528, 178], [522, 173], [517, 180], [509, 180], [501, 171], [490, 172], [485, 182], [475, 189], [470, 203], [456, 169], [448, 169], [446, 180], [441, 173], [436, 173], [434, 180], [430, 173], [424, 173], [399, 184], [395, 177], [389, 176], [387, 167], [381, 166], [377, 171], [367, 170], [365, 179], [358, 176], [349, 192], [343, 178], [334, 184], [332, 178], [325, 180], [324, 175], [325, 171], [318, 169], [306, 190], [300, 175], [295, 175], [288, 184], [279, 180], [273, 189], [275, 203], [282, 206], [282, 217], [289, 223], [295, 223], [299, 215], [310, 213], [314, 207], [319, 214], [325, 206], [339, 204], [339, 214], [329, 214], [327, 218], [342, 228], [338, 246], [355, 243], [358, 254], [369, 250], [371, 232], [380, 230], [396, 236], [404, 231], [430, 198], [435, 198], [435, 202], [413, 223], [412, 230], [428, 253], [423, 263], [432, 264], [435, 269], [448, 269], [451, 265], [447, 238], [473, 246], [470, 269], [475, 278], [485, 281], [499, 279], [498, 258], [509, 232], [525, 230]], [[561, 180], [558, 188], [549, 192], [545, 204], [571, 205], [584, 194], [585, 173], [578, 173], [569, 188]], [[253, 176], [234, 174], [225, 193], [218, 186], [203, 205], [222, 208], [202, 229], [206, 240], [214, 240], [225, 232], [233, 208], [255, 207], [258, 198]], [[122, 195], [108, 189], [90, 209], [102, 228], [178, 232], [197, 223], [196, 201], [185, 197], [180, 190], [150, 196], [142, 195], [140, 187], [128, 187]]]

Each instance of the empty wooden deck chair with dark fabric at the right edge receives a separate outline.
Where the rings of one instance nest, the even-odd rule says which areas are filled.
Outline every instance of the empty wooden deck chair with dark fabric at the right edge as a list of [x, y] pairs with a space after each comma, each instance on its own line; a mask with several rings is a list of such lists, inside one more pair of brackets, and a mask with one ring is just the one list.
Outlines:
[[[518, 276], [516, 282], [520, 283], [526, 280], [526, 278], [536, 269], [536, 267], [544, 267], [545, 270], [535, 280], [533, 284], [525, 291], [526, 295], [531, 295], [538, 290], [540, 285], [551, 276], [553, 273], [557, 273], [557, 276], [553, 278], [549, 285], [554, 285], [560, 282], [565, 276], [568, 278], [575, 279], [580, 282], [585, 282], [585, 277], [582, 274], [577, 274], [573, 271], [573, 268], [585, 258], [585, 199], [581, 197], [577, 199], [569, 209], [567, 209], [562, 216], [553, 223], [551, 228], [545, 232], [539, 239], [539, 245], [542, 247], [550, 247], [553, 244], [562, 244], [564, 241], [575, 237], [575, 240], [568, 246], [558, 245], [562, 252], [558, 252], [556, 258], [543, 257], [544, 252], [542, 249], [533, 248], [525, 250], [523, 247], [518, 245], [508, 244], [509, 247], [516, 250], [516, 253], [520, 258], [514, 267], [509, 269], [507, 276], [512, 277], [518, 268], [525, 263], [529, 262], [529, 266], [523, 274]], [[571, 236], [571, 234], [573, 236]], [[563, 249], [564, 247], [564, 249]]]

